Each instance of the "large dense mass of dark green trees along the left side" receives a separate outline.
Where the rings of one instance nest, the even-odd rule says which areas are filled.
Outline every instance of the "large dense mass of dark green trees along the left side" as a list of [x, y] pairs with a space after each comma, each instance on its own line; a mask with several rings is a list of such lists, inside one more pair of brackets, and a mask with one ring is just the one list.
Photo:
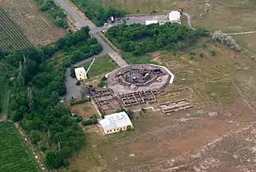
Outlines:
[[[92, 41], [95, 43], [85, 27], [60, 38], [54, 45], [0, 52], [2, 64], [12, 70], [12, 79], [7, 83], [11, 91], [7, 117], [19, 122], [32, 143], [45, 153], [44, 161], [49, 168], [66, 165], [66, 159], [85, 146], [85, 134], [66, 104], [60, 102], [59, 97], [66, 94], [67, 66], [53, 66], [48, 59], [55, 52], [72, 52], [80, 43], [89, 46]], [[95, 53], [98, 52], [90, 55]]]

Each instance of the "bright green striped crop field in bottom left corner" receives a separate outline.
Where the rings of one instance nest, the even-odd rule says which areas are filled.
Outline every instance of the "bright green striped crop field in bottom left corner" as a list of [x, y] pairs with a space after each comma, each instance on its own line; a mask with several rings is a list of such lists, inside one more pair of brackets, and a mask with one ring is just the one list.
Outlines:
[[39, 171], [14, 126], [1, 122], [0, 136], [0, 171]]

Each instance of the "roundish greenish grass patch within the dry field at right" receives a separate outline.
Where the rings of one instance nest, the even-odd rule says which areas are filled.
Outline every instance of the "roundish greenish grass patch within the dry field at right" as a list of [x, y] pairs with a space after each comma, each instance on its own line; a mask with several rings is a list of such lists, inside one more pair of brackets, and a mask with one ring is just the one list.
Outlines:
[[231, 82], [208, 83], [206, 93], [217, 102], [230, 102], [235, 97]]

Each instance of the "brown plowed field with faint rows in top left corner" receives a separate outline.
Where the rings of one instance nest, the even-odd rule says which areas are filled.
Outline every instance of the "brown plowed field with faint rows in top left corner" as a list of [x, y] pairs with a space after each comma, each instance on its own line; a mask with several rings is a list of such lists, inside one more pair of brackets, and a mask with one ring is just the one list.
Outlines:
[[14, 22], [17, 29], [20, 29], [36, 47], [53, 43], [66, 34], [66, 30], [58, 29], [54, 25], [50, 16], [39, 11], [34, 0], [2, 1], [0, 7]]

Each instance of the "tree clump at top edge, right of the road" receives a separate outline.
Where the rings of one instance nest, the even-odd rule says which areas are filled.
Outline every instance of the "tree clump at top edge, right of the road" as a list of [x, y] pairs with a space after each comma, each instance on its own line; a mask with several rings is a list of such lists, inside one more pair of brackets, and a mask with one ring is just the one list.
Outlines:
[[71, 0], [71, 2], [74, 2], [75, 5], [85, 13], [85, 16], [87, 16], [89, 20], [92, 20], [97, 26], [104, 25], [104, 23], [107, 22], [107, 19], [109, 19], [111, 16], [125, 16], [125, 11], [117, 10], [112, 7], [102, 7], [95, 1]]

